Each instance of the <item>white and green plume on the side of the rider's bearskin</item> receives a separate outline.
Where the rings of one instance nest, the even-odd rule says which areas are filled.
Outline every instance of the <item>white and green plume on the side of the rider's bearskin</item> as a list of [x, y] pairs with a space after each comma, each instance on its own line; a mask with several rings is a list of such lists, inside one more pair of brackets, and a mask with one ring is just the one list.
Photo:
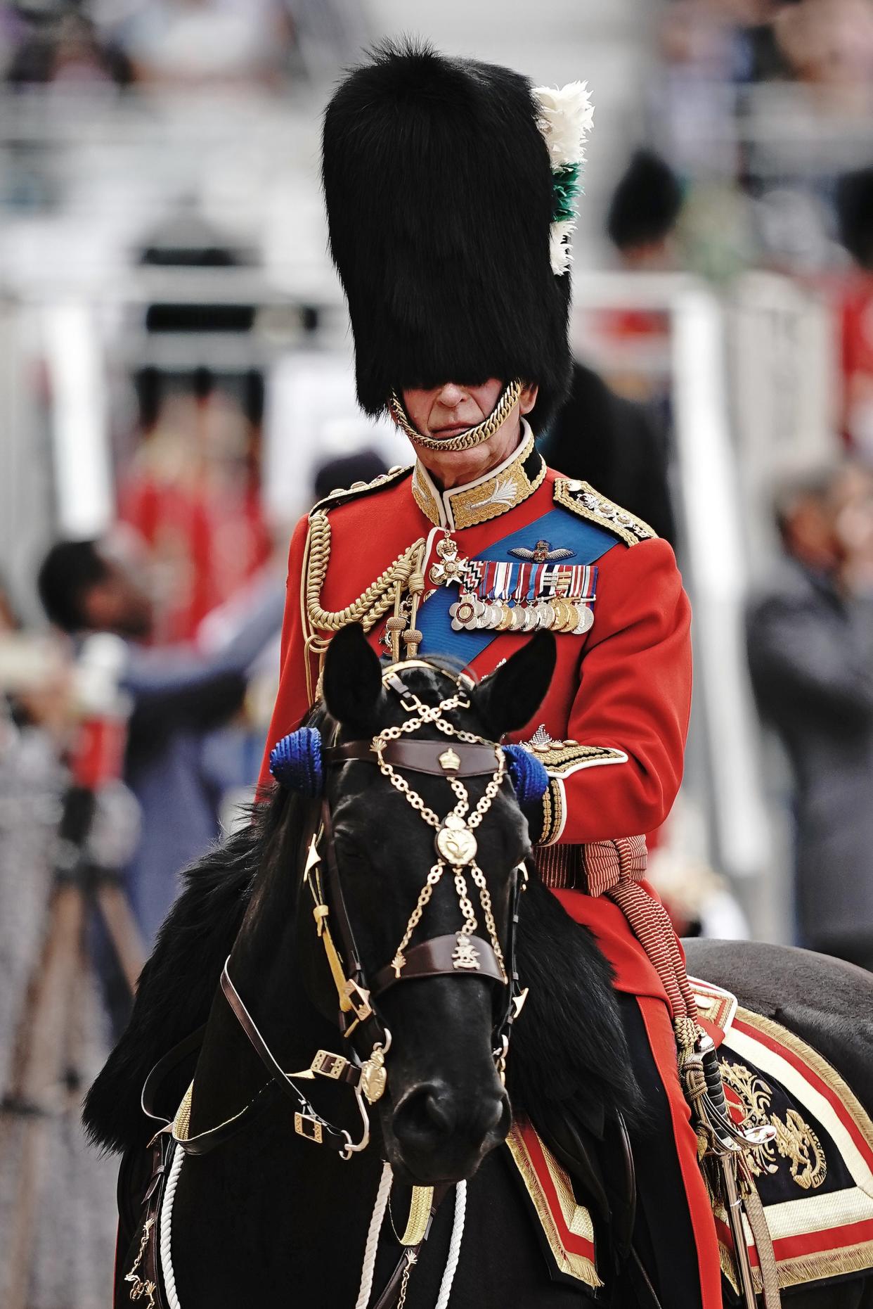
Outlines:
[[594, 106], [588, 82], [567, 86], [535, 86], [539, 101], [539, 130], [548, 147], [552, 166], [552, 221], [550, 258], [552, 272], [563, 274], [572, 259], [569, 237], [576, 226], [576, 202], [582, 194], [585, 139], [592, 130]]

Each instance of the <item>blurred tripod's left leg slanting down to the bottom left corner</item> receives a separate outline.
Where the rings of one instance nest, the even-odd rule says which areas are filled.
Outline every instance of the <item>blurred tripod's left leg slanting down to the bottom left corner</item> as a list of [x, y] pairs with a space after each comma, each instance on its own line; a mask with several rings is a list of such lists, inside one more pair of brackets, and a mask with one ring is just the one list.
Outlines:
[[[26, 1309], [31, 1254], [42, 1192], [51, 1111], [58, 1103], [58, 1081], [64, 1054], [68, 1001], [80, 962], [84, 899], [73, 885], [59, 886], [52, 897], [46, 946], [29, 994], [26, 1028], [17, 1041], [17, 1068], [4, 1101], [0, 1138], [3, 1155], [21, 1126], [17, 1160], [17, 1195], [8, 1233], [5, 1309]], [[16, 1114], [17, 1109], [17, 1114]], [[21, 1114], [25, 1117], [21, 1117]], [[14, 1115], [14, 1118], [13, 1118]], [[8, 1165], [8, 1160], [4, 1158]]]

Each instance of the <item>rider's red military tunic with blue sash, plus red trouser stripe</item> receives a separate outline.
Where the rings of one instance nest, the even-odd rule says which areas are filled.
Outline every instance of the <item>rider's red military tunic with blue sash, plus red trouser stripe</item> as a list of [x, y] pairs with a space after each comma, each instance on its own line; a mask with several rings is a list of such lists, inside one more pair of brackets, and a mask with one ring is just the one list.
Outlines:
[[[321, 545], [314, 548], [313, 520], [319, 513]], [[325, 514], [330, 525], [326, 572]], [[317, 596], [321, 610], [338, 614], [423, 541], [425, 592], [416, 620], [421, 657], [458, 656], [482, 678], [529, 639], [526, 632], [452, 628], [448, 606], [458, 598], [458, 589], [433, 585], [431, 573], [446, 531], [461, 559], [508, 563], [518, 558], [513, 550], [527, 558], [539, 546], [541, 555], [544, 547], [550, 554], [565, 550], [567, 567], [579, 560], [580, 568], [589, 569], [584, 586], [592, 598], [585, 607], [593, 623], [580, 635], [558, 635], [558, 662], [546, 699], [531, 723], [514, 734], [516, 741], [539, 746], [552, 778], [543, 839], [550, 847], [586, 846], [657, 829], [679, 788], [691, 703], [690, 606], [673, 550], [585, 483], [568, 482], [547, 469], [526, 424], [518, 450], [470, 486], [440, 492], [416, 465], [329, 497], [297, 525], [288, 563], [281, 677], [262, 783], [270, 781], [270, 749], [301, 724], [315, 695], [318, 652], [330, 634], [312, 618], [315, 593], [310, 588], [308, 594], [308, 581], [313, 573], [323, 572]], [[518, 565], [513, 567], [514, 577]], [[380, 617], [369, 631], [380, 653], [385, 653], [383, 637], [385, 617]], [[548, 851], [541, 847], [538, 863], [546, 867], [547, 860]], [[575, 889], [555, 894], [576, 922], [594, 932], [613, 963], [616, 987], [640, 997], [698, 1237], [704, 1309], [720, 1309], [717, 1246], [678, 1081], [665, 987], [613, 899]]]

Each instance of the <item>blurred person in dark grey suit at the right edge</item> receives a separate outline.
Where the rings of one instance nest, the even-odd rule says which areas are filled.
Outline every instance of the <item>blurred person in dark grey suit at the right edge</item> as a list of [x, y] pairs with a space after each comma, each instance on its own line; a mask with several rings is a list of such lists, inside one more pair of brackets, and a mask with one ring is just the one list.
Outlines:
[[798, 479], [776, 520], [784, 558], [747, 641], [794, 775], [801, 944], [873, 970], [873, 474]]

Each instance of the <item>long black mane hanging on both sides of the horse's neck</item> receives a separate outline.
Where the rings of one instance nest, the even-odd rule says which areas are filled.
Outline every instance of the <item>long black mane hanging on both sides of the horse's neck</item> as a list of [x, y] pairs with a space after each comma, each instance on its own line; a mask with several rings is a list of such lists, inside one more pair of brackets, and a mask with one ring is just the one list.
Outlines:
[[[323, 723], [325, 711], [310, 717]], [[84, 1122], [109, 1151], [144, 1144], [153, 1130], [140, 1107], [151, 1068], [205, 1022], [253, 889], [276, 843], [288, 848], [305, 830], [309, 802], [281, 788], [255, 806], [251, 822], [186, 870], [143, 969], [131, 1020], [92, 1085]], [[530, 987], [516, 1024], [509, 1089], [516, 1110], [573, 1103], [582, 1119], [603, 1111], [632, 1115], [637, 1090], [626, 1052], [610, 966], [590, 932], [573, 923], [534, 876], [524, 897], [517, 966]]]

